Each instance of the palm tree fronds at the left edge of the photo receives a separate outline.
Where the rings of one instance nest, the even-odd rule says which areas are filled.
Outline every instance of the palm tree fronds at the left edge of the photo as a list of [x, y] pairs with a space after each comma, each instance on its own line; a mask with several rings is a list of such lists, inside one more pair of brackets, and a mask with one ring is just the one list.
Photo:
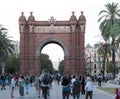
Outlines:
[[14, 46], [8, 37], [7, 29], [0, 25], [0, 62], [4, 62], [13, 50]]

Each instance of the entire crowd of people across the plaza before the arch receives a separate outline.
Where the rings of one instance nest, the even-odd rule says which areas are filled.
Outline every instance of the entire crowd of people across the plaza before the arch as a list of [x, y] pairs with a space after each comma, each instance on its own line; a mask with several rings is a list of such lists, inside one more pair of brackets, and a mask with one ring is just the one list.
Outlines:
[[92, 99], [93, 94], [93, 83], [98, 81], [98, 86], [101, 86], [102, 78], [98, 75], [97, 79], [90, 77], [89, 75], [79, 76], [79, 75], [65, 75], [65, 74], [55, 74], [52, 75], [43, 70], [41, 74], [37, 75], [0, 75], [0, 85], [1, 90], [5, 90], [5, 86], [11, 87], [11, 98], [14, 98], [14, 89], [19, 88], [19, 94], [24, 97], [25, 94], [29, 94], [30, 86], [35, 87], [36, 94], [38, 97], [47, 97], [50, 95], [50, 88], [53, 81], [57, 81], [58, 85], [62, 86], [62, 99], [69, 99], [72, 95], [73, 99], [79, 99], [80, 93], [85, 95], [85, 99]]

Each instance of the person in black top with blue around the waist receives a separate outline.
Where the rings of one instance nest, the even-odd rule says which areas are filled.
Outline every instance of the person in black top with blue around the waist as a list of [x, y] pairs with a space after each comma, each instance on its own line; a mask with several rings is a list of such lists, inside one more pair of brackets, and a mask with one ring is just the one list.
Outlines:
[[64, 76], [61, 82], [62, 85], [62, 99], [69, 99], [69, 94], [71, 91], [71, 81], [68, 76]]

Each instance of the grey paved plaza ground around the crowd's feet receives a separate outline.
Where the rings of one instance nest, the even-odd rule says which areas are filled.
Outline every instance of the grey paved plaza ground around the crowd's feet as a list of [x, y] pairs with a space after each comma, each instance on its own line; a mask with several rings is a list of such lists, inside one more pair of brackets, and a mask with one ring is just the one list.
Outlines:
[[[98, 90], [96, 87], [97, 85], [94, 85], [93, 99], [114, 99], [115, 96], [113, 94]], [[105, 84], [102, 84], [102, 87], [115, 87], [115, 88], [118, 87], [119, 88], [119, 85], [105, 83]], [[6, 90], [0, 90], [0, 99], [11, 99], [10, 92], [11, 90], [9, 87]], [[18, 88], [16, 88], [14, 92], [14, 96], [15, 98], [13, 99], [43, 99], [42, 96], [38, 98], [38, 96], [36, 95], [34, 86], [30, 87], [29, 94], [28, 95], [25, 94], [24, 97], [20, 97], [19, 90]], [[61, 85], [57, 85], [57, 83], [53, 82], [53, 86], [50, 90], [50, 96], [48, 97], [48, 99], [62, 99]], [[72, 96], [70, 96], [69, 99], [73, 99]], [[80, 95], [80, 99], [85, 99], [85, 95]]]

